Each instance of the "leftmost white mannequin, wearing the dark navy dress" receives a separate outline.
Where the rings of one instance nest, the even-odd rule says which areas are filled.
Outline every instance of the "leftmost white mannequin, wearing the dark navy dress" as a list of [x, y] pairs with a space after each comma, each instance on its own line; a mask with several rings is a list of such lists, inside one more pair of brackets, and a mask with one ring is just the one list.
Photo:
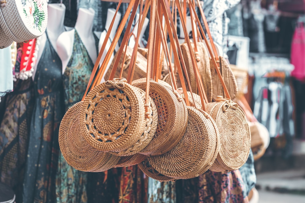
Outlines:
[[[65, 12], [66, 12], [66, 7], [64, 4], [48, 4], [48, 23], [47, 23], [46, 32], [48, 33], [49, 40], [55, 51], [57, 51], [56, 48], [57, 38], [61, 33], [65, 31], [65, 26], [63, 25], [63, 21], [65, 19]], [[34, 72], [32, 76], [33, 80], [34, 80], [35, 72], [37, 70], [38, 62], [45, 48], [46, 41], [47, 41], [47, 35], [46, 33], [43, 33], [39, 37], [40, 44], [37, 53], [37, 61], [33, 67], [34, 68]]]

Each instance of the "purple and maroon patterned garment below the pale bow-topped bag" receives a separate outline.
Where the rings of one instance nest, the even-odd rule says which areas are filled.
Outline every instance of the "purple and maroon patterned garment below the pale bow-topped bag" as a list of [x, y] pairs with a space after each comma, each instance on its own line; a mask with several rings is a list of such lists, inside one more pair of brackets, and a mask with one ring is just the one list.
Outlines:
[[208, 170], [199, 176], [199, 203], [248, 203], [239, 170], [229, 173]]

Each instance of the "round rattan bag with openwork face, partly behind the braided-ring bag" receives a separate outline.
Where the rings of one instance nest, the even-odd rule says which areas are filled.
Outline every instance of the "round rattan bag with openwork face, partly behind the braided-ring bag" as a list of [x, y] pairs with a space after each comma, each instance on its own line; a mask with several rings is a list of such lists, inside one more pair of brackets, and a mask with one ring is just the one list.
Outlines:
[[[158, 125], [152, 141], [141, 152], [147, 156], [160, 155], [172, 149], [185, 133], [188, 112], [185, 101], [179, 93], [153, 80], [150, 81], [149, 96], [158, 111]], [[138, 79], [132, 85], [146, 88], [146, 79]]]

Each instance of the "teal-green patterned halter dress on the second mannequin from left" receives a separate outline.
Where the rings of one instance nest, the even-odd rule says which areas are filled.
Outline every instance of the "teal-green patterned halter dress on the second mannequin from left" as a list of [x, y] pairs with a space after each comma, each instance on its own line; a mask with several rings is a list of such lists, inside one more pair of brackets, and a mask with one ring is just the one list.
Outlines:
[[[95, 37], [97, 51], [99, 39]], [[94, 47], [92, 47], [94, 48]], [[93, 69], [93, 62], [77, 31], [74, 34], [73, 51], [63, 74], [65, 111], [81, 101]], [[56, 200], [63, 203], [87, 202], [87, 173], [70, 166], [59, 152], [56, 175]]]

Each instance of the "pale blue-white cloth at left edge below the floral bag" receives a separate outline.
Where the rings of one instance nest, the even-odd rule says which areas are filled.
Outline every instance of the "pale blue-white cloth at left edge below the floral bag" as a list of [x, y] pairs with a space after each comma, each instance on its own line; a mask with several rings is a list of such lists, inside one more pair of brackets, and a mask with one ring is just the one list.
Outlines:
[[6, 93], [13, 91], [13, 69], [11, 47], [0, 49], [0, 101]]

